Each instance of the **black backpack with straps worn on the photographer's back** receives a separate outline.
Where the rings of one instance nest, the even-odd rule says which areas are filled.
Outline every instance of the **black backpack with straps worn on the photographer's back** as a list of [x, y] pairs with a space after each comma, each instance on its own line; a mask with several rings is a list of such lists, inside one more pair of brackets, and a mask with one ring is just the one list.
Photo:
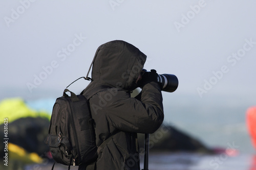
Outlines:
[[[76, 166], [96, 161], [98, 148], [95, 143], [95, 124], [88, 100], [92, 95], [108, 87], [96, 87], [87, 93], [87, 98], [82, 94], [76, 95], [66, 88], [63, 96], [56, 99], [49, 134], [45, 140], [55, 162], [69, 165], [70, 169], [71, 164]], [[68, 91], [71, 96], [66, 94]], [[111, 137], [107, 140], [110, 139]], [[108, 141], [103, 142], [99, 148], [104, 148], [106, 142]]]

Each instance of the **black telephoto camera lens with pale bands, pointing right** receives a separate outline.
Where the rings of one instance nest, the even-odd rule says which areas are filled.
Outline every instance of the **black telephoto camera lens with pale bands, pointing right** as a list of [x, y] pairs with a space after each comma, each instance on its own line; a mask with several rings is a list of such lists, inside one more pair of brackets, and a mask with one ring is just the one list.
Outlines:
[[[147, 72], [146, 69], [142, 69], [142, 71]], [[179, 85], [178, 78], [170, 74], [158, 75], [157, 81], [161, 84], [162, 90], [166, 92], [174, 92]]]

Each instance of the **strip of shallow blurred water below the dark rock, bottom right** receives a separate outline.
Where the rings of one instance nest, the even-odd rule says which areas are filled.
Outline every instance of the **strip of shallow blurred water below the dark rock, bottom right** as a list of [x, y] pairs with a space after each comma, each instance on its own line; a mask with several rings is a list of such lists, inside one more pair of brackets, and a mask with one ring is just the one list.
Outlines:
[[[143, 158], [140, 163], [143, 169]], [[255, 170], [256, 155], [226, 153], [204, 155], [197, 153], [151, 154], [148, 163], [150, 170]]]

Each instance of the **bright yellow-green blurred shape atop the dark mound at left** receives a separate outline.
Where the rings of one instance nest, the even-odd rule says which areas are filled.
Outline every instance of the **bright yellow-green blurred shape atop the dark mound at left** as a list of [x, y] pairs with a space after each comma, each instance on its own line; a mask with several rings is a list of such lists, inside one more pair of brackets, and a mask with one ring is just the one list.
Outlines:
[[37, 112], [30, 109], [23, 99], [11, 98], [5, 99], [0, 103], [0, 124], [4, 124], [4, 118], [8, 118], [8, 124], [22, 117], [47, 117], [51, 116], [46, 112]]

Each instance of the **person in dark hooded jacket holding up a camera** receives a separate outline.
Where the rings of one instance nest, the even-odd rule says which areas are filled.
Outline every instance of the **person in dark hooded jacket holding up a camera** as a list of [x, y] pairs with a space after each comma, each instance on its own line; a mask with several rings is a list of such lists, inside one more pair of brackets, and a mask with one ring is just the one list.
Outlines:
[[[100, 45], [92, 68], [93, 88], [106, 85], [90, 98], [96, 145], [111, 137], [98, 154], [94, 169], [140, 169], [137, 133], [154, 133], [162, 124], [162, 93], [155, 70], [141, 76], [146, 55], [134, 45], [115, 40]], [[131, 92], [140, 86], [140, 94]], [[80, 165], [79, 169], [88, 169]]]

